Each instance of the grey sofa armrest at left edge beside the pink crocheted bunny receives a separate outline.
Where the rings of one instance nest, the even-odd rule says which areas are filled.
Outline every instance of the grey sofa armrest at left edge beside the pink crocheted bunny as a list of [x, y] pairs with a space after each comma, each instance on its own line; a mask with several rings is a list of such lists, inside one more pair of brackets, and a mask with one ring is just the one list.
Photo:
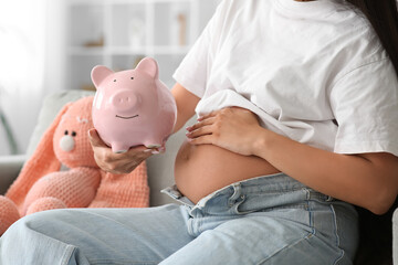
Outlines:
[[25, 158], [25, 155], [0, 156], [0, 194], [17, 179]]

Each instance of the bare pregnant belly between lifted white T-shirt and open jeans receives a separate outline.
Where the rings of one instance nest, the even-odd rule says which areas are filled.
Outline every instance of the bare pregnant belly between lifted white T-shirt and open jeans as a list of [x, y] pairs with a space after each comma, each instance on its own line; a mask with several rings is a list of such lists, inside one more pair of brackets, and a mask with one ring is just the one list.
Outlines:
[[197, 203], [201, 198], [237, 181], [280, 172], [259, 157], [248, 157], [212, 145], [185, 141], [175, 163], [178, 190]]

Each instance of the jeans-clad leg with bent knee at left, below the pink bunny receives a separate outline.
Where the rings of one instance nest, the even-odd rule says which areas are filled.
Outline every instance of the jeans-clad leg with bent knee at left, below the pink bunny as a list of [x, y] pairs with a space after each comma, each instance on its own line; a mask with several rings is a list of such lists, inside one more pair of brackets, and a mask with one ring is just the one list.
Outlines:
[[28, 215], [1, 237], [0, 263], [158, 264], [192, 237], [184, 206], [70, 209]]

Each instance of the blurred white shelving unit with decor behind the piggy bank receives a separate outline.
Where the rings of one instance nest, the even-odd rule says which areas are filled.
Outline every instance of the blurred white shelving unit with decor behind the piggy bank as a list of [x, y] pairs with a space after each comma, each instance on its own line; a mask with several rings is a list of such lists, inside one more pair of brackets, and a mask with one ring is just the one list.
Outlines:
[[218, 0], [65, 0], [65, 86], [92, 89], [91, 70], [133, 68], [145, 56], [171, 75], [216, 10]]

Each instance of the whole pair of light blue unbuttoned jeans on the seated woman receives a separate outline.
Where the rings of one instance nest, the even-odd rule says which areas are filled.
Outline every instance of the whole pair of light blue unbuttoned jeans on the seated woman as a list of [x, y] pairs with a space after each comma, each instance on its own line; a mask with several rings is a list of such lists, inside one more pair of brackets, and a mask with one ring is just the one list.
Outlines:
[[28, 215], [1, 237], [0, 264], [352, 264], [357, 214], [286, 174], [228, 186], [196, 205], [66, 209]]

